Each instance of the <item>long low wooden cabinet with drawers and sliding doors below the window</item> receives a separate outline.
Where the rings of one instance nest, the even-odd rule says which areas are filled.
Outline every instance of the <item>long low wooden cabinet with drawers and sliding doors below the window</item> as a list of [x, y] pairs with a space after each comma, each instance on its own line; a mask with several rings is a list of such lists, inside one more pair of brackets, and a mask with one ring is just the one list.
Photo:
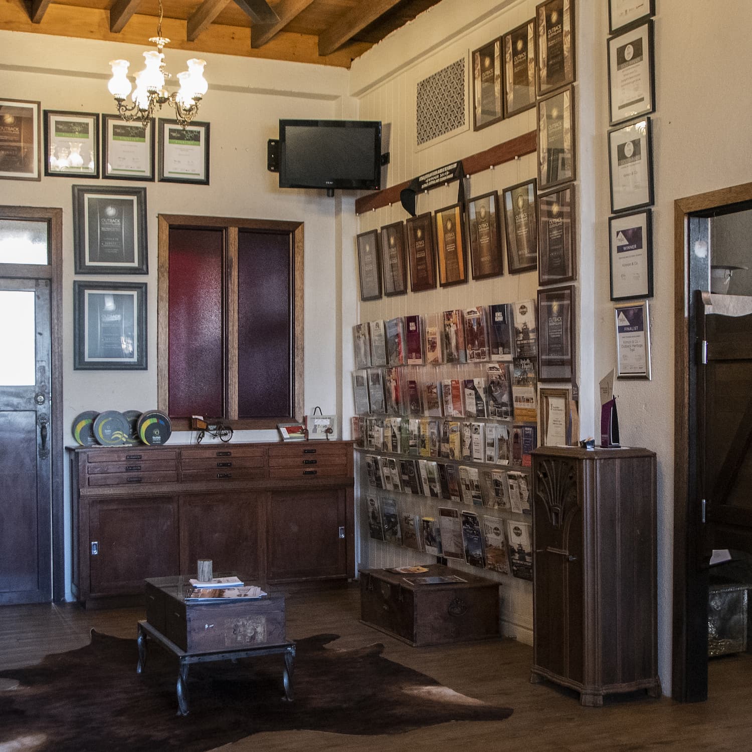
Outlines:
[[355, 576], [351, 441], [71, 450], [73, 592], [138, 596], [145, 578]]

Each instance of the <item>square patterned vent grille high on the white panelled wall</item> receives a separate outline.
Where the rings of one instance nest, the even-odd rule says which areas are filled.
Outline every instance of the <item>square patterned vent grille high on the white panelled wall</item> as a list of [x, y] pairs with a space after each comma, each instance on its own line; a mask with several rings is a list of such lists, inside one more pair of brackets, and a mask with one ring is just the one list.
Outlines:
[[465, 126], [465, 59], [447, 65], [418, 82], [416, 138], [422, 146]]

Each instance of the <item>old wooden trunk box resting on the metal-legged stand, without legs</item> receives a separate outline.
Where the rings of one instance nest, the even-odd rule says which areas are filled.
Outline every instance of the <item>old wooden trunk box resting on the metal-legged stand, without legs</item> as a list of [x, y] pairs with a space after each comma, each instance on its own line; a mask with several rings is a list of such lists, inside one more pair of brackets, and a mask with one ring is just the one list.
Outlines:
[[285, 598], [190, 603], [187, 578], [146, 581], [146, 620], [186, 653], [248, 650], [285, 642]]

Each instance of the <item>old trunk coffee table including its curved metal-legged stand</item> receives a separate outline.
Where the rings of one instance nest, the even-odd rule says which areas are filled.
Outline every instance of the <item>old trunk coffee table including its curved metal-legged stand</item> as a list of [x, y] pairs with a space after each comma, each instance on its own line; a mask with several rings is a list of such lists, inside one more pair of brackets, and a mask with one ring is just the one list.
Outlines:
[[190, 603], [187, 577], [146, 580], [146, 620], [139, 621], [139, 665], [146, 667], [148, 637], [178, 656], [178, 708], [188, 713], [187, 679], [191, 663], [236, 660], [279, 653], [285, 656], [285, 699], [293, 699], [295, 643], [285, 638], [285, 597]]

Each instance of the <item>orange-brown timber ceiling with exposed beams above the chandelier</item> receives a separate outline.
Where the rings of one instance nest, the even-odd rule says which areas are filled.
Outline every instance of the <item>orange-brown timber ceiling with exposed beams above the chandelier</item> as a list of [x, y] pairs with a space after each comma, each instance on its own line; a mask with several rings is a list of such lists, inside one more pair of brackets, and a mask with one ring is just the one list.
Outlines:
[[[170, 47], [349, 68], [440, 0], [163, 0]], [[0, 29], [148, 46], [158, 0], [5, 0]], [[169, 48], [168, 48], [169, 49]]]

